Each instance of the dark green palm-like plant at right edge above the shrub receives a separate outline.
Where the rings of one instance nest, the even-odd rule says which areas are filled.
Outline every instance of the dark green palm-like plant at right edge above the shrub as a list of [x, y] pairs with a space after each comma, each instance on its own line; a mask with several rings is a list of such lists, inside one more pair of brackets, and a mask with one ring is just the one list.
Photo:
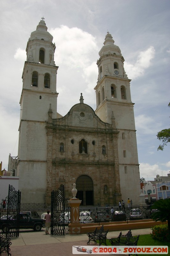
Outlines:
[[152, 219], [155, 221], [168, 221], [168, 230], [170, 231], [170, 198], [159, 199], [154, 202], [151, 209], [158, 209], [159, 212], [152, 213]]

